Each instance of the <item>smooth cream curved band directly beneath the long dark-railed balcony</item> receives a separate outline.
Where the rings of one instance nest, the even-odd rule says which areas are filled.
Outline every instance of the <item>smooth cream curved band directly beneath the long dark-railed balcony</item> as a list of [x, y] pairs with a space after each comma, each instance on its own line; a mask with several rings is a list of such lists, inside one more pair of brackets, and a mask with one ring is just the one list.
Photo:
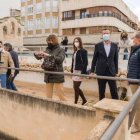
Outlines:
[[103, 25], [114, 26], [120, 30], [125, 30], [126, 32], [135, 31], [130, 26], [114, 17], [94, 17], [88, 19], [85, 18], [85, 19], [67, 20], [61, 22], [62, 29], [103, 26]]

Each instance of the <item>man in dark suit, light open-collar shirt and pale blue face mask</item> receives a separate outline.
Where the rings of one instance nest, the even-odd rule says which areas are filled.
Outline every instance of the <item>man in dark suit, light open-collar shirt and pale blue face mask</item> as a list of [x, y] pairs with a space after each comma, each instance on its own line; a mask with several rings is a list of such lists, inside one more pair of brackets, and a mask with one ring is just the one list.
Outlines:
[[[100, 76], [115, 77], [118, 73], [118, 46], [110, 41], [110, 31], [102, 31], [103, 42], [95, 45], [91, 73]], [[106, 83], [108, 82], [112, 99], [118, 99], [116, 81], [98, 79], [99, 100], [105, 98]]]

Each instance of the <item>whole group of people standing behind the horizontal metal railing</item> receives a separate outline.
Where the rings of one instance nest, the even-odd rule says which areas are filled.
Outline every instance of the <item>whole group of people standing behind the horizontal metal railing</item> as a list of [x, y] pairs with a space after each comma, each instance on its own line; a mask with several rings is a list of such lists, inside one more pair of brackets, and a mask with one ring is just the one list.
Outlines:
[[[66, 38], [67, 39], [67, 38]], [[98, 76], [118, 76], [119, 48], [124, 47], [123, 52], [131, 52], [130, 57], [124, 55], [123, 59], [128, 61], [128, 78], [140, 79], [140, 32], [136, 33], [132, 40], [128, 39], [128, 34], [123, 32], [119, 45], [111, 41], [111, 32], [108, 29], [102, 31], [102, 41], [95, 45], [93, 60], [91, 63], [91, 75]], [[65, 59], [65, 50], [60, 47], [56, 35], [47, 37], [47, 47], [44, 52], [36, 52], [36, 59], [44, 59], [42, 68], [46, 71], [63, 72], [63, 62]], [[130, 50], [130, 42], [132, 50]], [[68, 43], [68, 41], [67, 41]], [[119, 47], [118, 47], [119, 46]], [[129, 47], [128, 47], [129, 46]], [[87, 74], [88, 51], [83, 47], [82, 39], [76, 37], [73, 40], [73, 55], [71, 60], [71, 73]], [[13, 50], [10, 43], [3, 44], [0, 41], [0, 80], [1, 87], [11, 90], [17, 90], [14, 79], [19, 70], [6, 69], [7, 67], [19, 68], [18, 54]], [[79, 97], [82, 99], [82, 105], [87, 103], [87, 99], [80, 88], [83, 78], [72, 76], [74, 89], [74, 103], [78, 103]], [[54, 90], [61, 101], [67, 101], [64, 95], [64, 75], [45, 73], [44, 81], [46, 83], [47, 97], [52, 99]], [[99, 100], [105, 98], [106, 84], [108, 83], [112, 99], [118, 100], [117, 84], [115, 80], [97, 79], [99, 87]], [[139, 83], [129, 82], [129, 86], [134, 94], [139, 88]], [[137, 103], [136, 115], [132, 132], [140, 131], [140, 101]]]

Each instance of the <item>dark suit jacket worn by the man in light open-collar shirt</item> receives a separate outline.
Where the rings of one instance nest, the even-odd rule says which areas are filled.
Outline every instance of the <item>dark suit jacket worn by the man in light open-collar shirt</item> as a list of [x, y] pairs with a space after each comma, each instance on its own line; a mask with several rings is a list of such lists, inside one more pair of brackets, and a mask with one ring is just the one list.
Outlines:
[[111, 76], [115, 76], [118, 73], [118, 46], [111, 42], [110, 53], [107, 57], [104, 43], [100, 42], [95, 45], [91, 72], [104, 76], [107, 67]]

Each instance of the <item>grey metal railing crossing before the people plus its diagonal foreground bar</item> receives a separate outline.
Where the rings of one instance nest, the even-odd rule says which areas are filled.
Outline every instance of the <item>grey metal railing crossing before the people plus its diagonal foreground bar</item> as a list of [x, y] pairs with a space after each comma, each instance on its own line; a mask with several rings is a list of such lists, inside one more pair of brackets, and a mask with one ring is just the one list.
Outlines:
[[[27, 72], [39, 72], [44, 74], [56, 74], [56, 75], [66, 75], [66, 76], [80, 76], [85, 78], [93, 78], [93, 79], [108, 79], [108, 80], [115, 80], [115, 81], [128, 81], [131, 83], [140, 83], [140, 79], [130, 79], [130, 78], [121, 78], [121, 77], [108, 77], [108, 76], [94, 76], [94, 75], [85, 75], [85, 74], [73, 74], [73, 73], [66, 73], [66, 72], [53, 72], [53, 71], [44, 71], [44, 70], [35, 70], [35, 69], [23, 69], [23, 68], [12, 68], [12, 67], [2, 67], [3, 69], [11, 69], [11, 70], [20, 70], [20, 71], [27, 71]], [[126, 107], [123, 111], [119, 114], [119, 116], [114, 120], [111, 126], [107, 129], [104, 135], [101, 137], [101, 140], [111, 140], [120, 127], [121, 123], [125, 119], [125, 117], [130, 113], [129, 117], [129, 127], [131, 126], [134, 109], [137, 101], [140, 99], [140, 88], [136, 91], [133, 95], [132, 99], [128, 102]], [[130, 111], [131, 110], [131, 111]], [[131, 119], [131, 120], [130, 120]]]

